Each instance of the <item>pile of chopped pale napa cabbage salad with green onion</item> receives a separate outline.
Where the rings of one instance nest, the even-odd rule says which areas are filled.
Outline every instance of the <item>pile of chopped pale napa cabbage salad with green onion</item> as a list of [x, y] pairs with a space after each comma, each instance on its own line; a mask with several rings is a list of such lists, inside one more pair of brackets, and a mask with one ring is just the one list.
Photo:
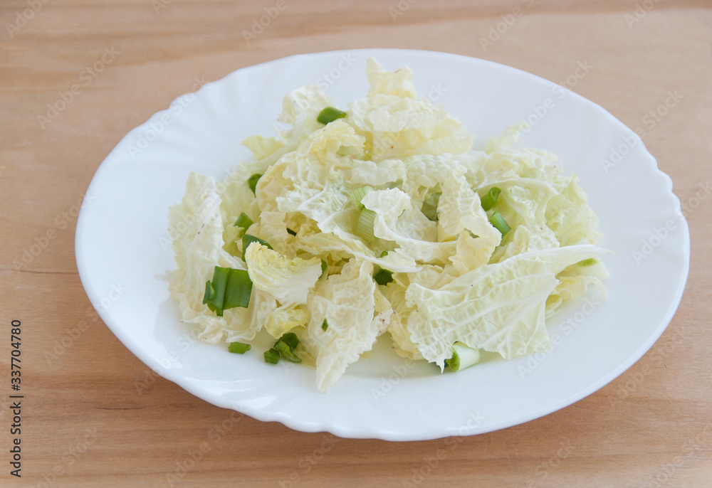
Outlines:
[[523, 127], [473, 150], [407, 67], [370, 58], [366, 74], [341, 108], [316, 85], [289, 92], [276, 137], [248, 137], [253, 159], [224, 181], [189, 175], [169, 210], [183, 322], [241, 354], [266, 330], [257, 354], [314, 365], [320, 391], [383, 334], [441, 371], [546, 351], [546, 318], [605, 292], [577, 178], [516, 147]]

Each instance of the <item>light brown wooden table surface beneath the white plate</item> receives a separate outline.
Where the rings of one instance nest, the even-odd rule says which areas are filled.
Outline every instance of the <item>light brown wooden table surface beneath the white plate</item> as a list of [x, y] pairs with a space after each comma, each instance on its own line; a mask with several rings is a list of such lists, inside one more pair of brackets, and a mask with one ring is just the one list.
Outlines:
[[[256, 28], [273, 7], [278, 15]], [[712, 486], [712, 198], [698, 193], [712, 181], [710, 7], [3, 0], [0, 485]], [[693, 255], [679, 311], [629, 371], [544, 418], [448, 446], [342, 440], [201, 401], [152, 373], [98, 319], [77, 274], [74, 228], [94, 171], [121, 137], [196, 80], [295, 53], [370, 47], [471, 55], [557, 83], [588, 63], [572, 90], [645, 130], [646, 146], [691, 209]], [[666, 101], [666, 114], [652, 115]], [[26, 394], [21, 479], [9, 466], [14, 319]]]

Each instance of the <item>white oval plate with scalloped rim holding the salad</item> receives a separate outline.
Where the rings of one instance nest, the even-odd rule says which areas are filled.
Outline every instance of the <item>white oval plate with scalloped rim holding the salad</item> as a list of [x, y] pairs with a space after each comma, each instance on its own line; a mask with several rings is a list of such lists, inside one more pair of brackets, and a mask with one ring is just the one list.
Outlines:
[[[571, 304], [549, 322], [547, 354], [439, 374], [377, 344], [328, 393], [313, 369], [195, 341], [169, 297], [174, 269], [167, 209], [189, 171], [222, 178], [250, 156], [239, 142], [271, 134], [283, 95], [318, 83], [335, 104], [363, 97], [365, 60], [408, 65], [419, 94], [445, 105], [476, 147], [522, 119], [523, 145], [557, 154], [575, 172], [615, 251], [608, 300]], [[603, 160], [611, 164], [604, 164]], [[669, 324], [689, 270], [689, 230], [668, 176], [641, 139], [589, 100], [514, 68], [464, 56], [360, 50], [292, 56], [237, 70], [133, 129], [99, 166], [76, 231], [88, 297], [141, 361], [214, 405], [290, 428], [341, 437], [425, 440], [471, 435], [539, 418], [597, 391], [637, 361]], [[639, 254], [636, 254], [639, 253]], [[591, 301], [593, 300], [593, 301]], [[258, 341], [259, 342], [259, 341]]]

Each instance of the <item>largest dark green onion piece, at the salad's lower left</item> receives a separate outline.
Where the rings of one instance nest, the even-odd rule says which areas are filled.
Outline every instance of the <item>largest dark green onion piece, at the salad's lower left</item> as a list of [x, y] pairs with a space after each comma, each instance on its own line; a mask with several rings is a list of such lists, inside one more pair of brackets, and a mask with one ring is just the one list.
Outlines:
[[218, 317], [234, 307], [247, 308], [252, 294], [252, 281], [245, 270], [216, 266], [213, 279], [205, 284], [203, 303]]

